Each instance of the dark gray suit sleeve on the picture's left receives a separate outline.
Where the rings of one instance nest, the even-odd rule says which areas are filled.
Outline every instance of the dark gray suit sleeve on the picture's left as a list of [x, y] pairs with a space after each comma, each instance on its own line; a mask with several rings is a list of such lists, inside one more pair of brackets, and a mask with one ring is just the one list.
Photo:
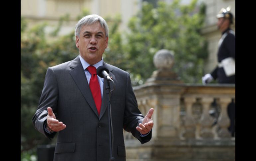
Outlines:
[[[57, 113], [57, 102], [58, 102], [58, 84], [56, 76], [52, 68], [48, 68], [45, 76], [44, 88], [41, 94], [39, 105], [35, 115], [32, 118], [32, 122], [35, 128], [44, 134], [49, 139], [54, 138], [56, 132], [47, 133], [45, 131], [45, 123], [47, 119], [47, 107], [51, 107], [53, 112]], [[57, 117], [57, 115], [56, 115]]]

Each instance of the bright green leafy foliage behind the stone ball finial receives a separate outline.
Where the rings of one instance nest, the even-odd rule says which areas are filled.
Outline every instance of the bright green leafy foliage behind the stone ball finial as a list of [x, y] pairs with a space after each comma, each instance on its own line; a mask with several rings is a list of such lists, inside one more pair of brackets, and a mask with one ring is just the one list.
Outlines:
[[203, 59], [207, 56], [206, 41], [200, 34], [204, 8], [201, 5], [197, 12], [196, 0], [186, 6], [180, 5], [178, 0], [171, 5], [159, 2], [157, 8], [144, 2], [142, 11], [129, 23], [126, 69], [145, 81], [155, 70], [154, 54], [160, 49], [168, 49], [175, 53], [173, 70], [181, 80], [199, 83]]

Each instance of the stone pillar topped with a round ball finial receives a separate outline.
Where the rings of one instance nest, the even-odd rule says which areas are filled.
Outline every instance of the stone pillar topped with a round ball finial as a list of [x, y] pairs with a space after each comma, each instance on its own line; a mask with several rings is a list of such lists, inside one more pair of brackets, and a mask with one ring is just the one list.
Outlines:
[[[183, 87], [177, 74], [172, 71], [174, 54], [172, 51], [162, 49], [154, 56], [154, 65], [157, 70], [147, 80], [145, 85], [154, 88], [152, 95], [156, 99], [155, 112], [157, 118], [156, 138], [178, 138], [180, 125], [180, 95]], [[157, 87], [157, 88], [156, 88]]]

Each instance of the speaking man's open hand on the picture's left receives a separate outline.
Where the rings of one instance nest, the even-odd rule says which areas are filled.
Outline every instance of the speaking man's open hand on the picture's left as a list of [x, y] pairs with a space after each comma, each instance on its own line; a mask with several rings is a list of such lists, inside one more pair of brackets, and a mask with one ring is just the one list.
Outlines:
[[61, 131], [66, 128], [66, 125], [63, 122], [60, 122], [56, 119], [53, 109], [51, 107], [47, 108], [48, 115], [47, 115], [47, 125], [52, 131]]

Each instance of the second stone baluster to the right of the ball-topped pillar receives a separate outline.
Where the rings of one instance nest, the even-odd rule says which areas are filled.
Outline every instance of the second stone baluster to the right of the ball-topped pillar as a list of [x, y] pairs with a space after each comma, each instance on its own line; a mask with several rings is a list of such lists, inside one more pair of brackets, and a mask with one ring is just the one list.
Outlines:
[[213, 119], [209, 115], [210, 104], [213, 101], [213, 98], [202, 97], [201, 104], [203, 107], [202, 116], [200, 118], [201, 130], [200, 136], [202, 138], [213, 138], [213, 133], [211, 130], [211, 125]]

